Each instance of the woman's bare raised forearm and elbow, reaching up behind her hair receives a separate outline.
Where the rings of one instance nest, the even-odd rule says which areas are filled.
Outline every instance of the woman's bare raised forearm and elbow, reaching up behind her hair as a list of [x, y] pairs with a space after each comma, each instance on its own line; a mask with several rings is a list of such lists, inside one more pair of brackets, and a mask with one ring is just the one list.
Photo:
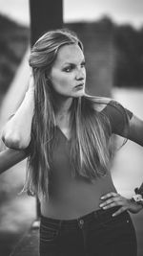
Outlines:
[[5, 125], [2, 140], [8, 148], [26, 149], [31, 141], [31, 122], [34, 111], [33, 77], [30, 78], [29, 89], [22, 104]]

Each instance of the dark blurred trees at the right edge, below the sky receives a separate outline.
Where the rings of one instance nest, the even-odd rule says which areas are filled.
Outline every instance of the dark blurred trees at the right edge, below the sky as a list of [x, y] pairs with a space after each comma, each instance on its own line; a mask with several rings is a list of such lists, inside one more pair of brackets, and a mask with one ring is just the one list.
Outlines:
[[130, 25], [114, 28], [115, 86], [143, 86], [143, 31]]

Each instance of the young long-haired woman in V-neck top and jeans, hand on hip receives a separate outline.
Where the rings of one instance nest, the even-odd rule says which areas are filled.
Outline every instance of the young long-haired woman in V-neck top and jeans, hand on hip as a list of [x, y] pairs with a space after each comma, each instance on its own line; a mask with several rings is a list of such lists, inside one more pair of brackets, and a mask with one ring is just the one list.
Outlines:
[[28, 156], [24, 189], [40, 200], [40, 256], [136, 256], [128, 211], [142, 200], [117, 194], [110, 163], [112, 134], [143, 146], [143, 121], [85, 92], [83, 46], [70, 31], [41, 36], [30, 65], [29, 91], [3, 130], [12, 150], [3, 153], [13, 162]]

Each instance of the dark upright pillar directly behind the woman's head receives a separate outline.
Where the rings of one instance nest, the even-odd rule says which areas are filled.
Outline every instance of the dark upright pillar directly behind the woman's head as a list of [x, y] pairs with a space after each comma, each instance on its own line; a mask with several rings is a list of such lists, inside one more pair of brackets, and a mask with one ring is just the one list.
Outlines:
[[[31, 12], [31, 46], [44, 33], [63, 26], [62, 0], [30, 0]], [[37, 219], [40, 216], [40, 205], [36, 203]]]

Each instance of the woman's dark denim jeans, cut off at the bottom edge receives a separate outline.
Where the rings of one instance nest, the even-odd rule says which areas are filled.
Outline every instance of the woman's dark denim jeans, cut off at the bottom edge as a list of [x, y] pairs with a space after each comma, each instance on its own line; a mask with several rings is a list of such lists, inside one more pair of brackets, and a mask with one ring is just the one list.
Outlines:
[[40, 256], [136, 256], [136, 237], [128, 212], [116, 217], [97, 210], [77, 220], [41, 217]]

